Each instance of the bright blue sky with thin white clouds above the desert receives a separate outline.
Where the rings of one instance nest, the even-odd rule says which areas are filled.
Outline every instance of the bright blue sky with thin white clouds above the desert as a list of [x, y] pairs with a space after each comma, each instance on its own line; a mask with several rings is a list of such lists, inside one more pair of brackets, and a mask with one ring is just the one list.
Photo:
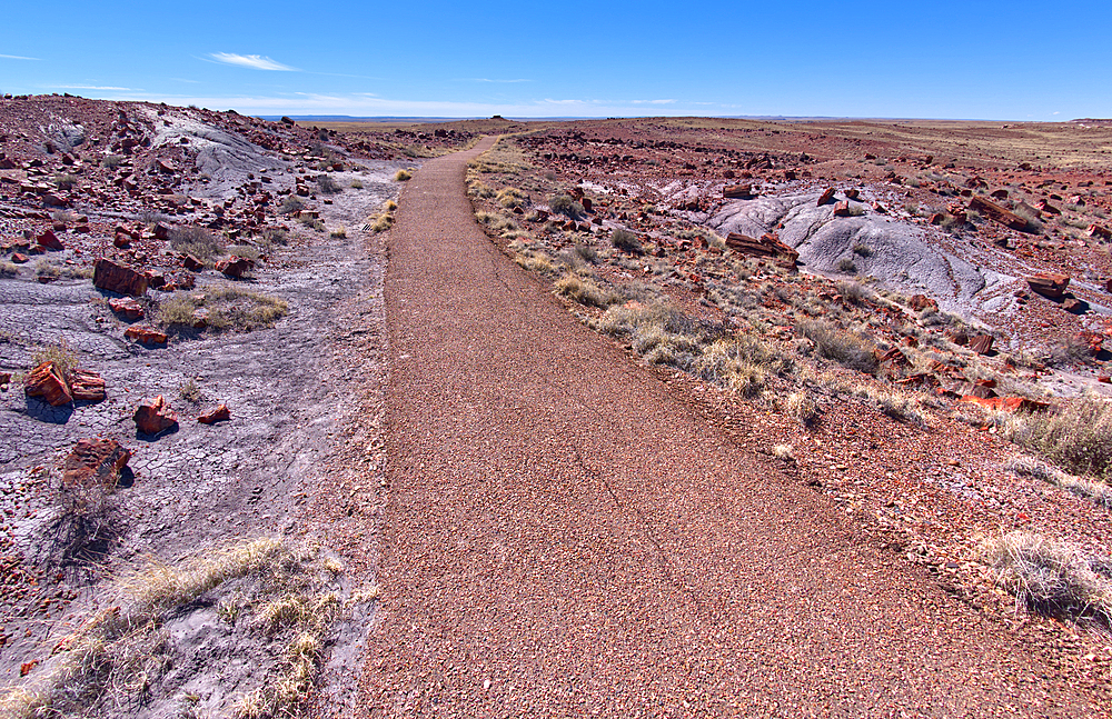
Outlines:
[[11, 2], [0, 92], [251, 114], [1112, 117], [1112, 3]]

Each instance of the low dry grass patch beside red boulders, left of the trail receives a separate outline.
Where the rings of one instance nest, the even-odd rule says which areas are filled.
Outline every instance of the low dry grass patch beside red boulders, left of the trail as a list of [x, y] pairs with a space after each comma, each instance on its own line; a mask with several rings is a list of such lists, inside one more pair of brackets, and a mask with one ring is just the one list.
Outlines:
[[192, 327], [195, 312], [201, 308], [208, 311], [205, 326], [217, 331], [270, 328], [289, 312], [285, 300], [238, 287], [221, 287], [203, 292], [175, 292], [159, 304], [158, 321], [170, 329]]

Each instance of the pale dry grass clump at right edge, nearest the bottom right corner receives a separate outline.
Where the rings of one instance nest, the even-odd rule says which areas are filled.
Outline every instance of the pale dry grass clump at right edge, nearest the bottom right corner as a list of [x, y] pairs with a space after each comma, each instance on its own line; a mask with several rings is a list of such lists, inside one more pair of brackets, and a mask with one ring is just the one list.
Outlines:
[[982, 550], [993, 579], [1017, 605], [1112, 627], [1112, 558], [1025, 531], [989, 541]]

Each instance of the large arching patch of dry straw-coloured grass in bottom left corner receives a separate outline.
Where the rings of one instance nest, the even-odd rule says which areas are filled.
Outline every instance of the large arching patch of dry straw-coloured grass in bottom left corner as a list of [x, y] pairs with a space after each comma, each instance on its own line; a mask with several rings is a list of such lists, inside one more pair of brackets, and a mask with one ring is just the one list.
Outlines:
[[172, 658], [181, 651], [165, 632], [165, 623], [195, 610], [190, 605], [199, 597], [209, 595], [222, 602], [232, 593], [227, 588], [235, 587], [238, 611], [222, 616], [241, 629], [225, 631], [239, 631], [241, 641], [264, 648], [277, 641], [275, 649], [262, 650], [280, 652], [276, 669], [259, 678], [258, 688], [235, 708], [236, 716], [295, 716], [319, 672], [325, 635], [345, 609], [325, 561], [315, 548], [264, 538], [172, 565], [152, 560], [137, 567], [117, 581], [109, 609], [58, 642], [34, 683], [0, 695], [0, 710], [6, 717], [31, 719], [136, 701], [171, 669]]

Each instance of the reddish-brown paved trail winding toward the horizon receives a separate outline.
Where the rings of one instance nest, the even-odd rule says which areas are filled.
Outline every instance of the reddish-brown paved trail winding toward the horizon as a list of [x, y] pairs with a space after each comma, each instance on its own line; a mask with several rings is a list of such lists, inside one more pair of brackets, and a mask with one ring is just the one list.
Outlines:
[[[406, 188], [371, 716], [1096, 716]], [[1095, 712], [1095, 713], [1093, 713]]]

